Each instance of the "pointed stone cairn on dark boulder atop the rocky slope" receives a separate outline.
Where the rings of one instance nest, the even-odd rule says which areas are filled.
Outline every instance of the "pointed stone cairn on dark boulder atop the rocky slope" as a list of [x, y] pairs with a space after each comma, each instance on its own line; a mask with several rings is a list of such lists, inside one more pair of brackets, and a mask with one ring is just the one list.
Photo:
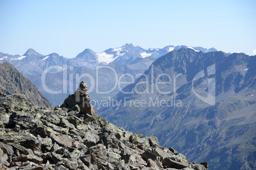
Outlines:
[[97, 117], [94, 107], [90, 104], [90, 96], [87, 93], [87, 84], [80, 82], [75, 94], [71, 94], [64, 100], [64, 103], [60, 107], [68, 108], [68, 112], [75, 111], [87, 117]]

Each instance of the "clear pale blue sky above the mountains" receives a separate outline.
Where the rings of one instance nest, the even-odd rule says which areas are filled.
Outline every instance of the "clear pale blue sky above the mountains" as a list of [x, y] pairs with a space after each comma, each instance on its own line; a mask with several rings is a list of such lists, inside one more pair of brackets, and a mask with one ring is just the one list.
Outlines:
[[256, 49], [256, 1], [0, 0], [0, 51], [71, 58], [132, 43], [142, 48]]

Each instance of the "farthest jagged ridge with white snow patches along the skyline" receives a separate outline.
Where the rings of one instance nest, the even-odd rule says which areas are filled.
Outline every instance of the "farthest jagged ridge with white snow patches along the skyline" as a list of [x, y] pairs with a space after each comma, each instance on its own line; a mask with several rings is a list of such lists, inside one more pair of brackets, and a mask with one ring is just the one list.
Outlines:
[[[91, 49], [85, 49], [79, 53], [75, 58], [64, 58], [59, 56], [57, 53], [52, 53], [50, 55], [41, 55], [36, 52], [34, 49], [28, 49], [24, 55], [8, 55], [0, 53], [0, 63], [10, 62], [15, 67], [20, 70], [20, 63], [22, 65], [31, 65], [32, 71], [21, 70], [22, 74], [37, 74], [40, 69], [48, 67], [48, 65], [59, 65], [60, 63], [68, 64], [68, 66], [76, 67], [88, 67], [94, 69], [96, 65], [108, 65], [111, 62], [115, 63], [125, 63], [129, 64], [136, 60], [136, 58], [159, 58], [162, 55], [166, 55], [170, 51], [178, 50], [180, 48], [188, 47], [194, 49], [195, 51], [203, 51], [204, 53], [210, 51], [217, 51], [215, 48], [202, 48], [202, 47], [189, 47], [189, 46], [166, 46], [164, 48], [149, 48], [143, 49], [139, 46], [133, 46], [133, 44], [125, 44], [120, 48], [109, 48], [103, 51], [102, 53], [96, 53]], [[55, 57], [55, 59], [53, 59]], [[53, 61], [54, 60], [54, 61]], [[58, 61], [59, 60], [59, 61]], [[34, 65], [36, 63], [37, 65]], [[34, 67], [41, 67], [34, 71]], [[26, 69], [28, 69], [26, 67]], [[24, 72], [23, 72], [24, 71]], [[42, 70], [41, 70], [42, 72]]]

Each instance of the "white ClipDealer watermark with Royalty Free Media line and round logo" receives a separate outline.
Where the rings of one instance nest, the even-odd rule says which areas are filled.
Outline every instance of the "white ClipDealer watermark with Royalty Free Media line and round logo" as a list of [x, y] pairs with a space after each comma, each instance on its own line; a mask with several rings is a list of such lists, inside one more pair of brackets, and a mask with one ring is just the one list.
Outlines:
[[[169, 95], [171, 93], [176, 94], [176, 84], [178, 77], [182, 76], [182, 74], [177, 74], [175, 72], [171, 72], [170, 74], [162, 73], [162, 72], [155, 72], [154, 66], [151, 65], [148, 70], [150, 70], [150, 74], [136, 74], [136, 77], [142, 77], [139, 82], [136, 82], [136, 77], [131, 74], [122, 74], [118, 76], [118, 73], [115, 69], [109, 66], [97, 66], [96, 67], [96, 75], [90, 75], [89, 73], [83, 74], [73, 74], [69, 73], [68, 70], [72, 71], [73, 67], [68, 67], [68, 65], [54, 65], [46, 68], [42, 75], [41, 75], [41, 85], [43, 89], [52, 95], [57, 95], [60, 93], [68, 93], [68, 85], [69, 91], [73, 90], [74, 82], [76, 86], [78, 86], [81, 79], [85, 77], [89, 79], [90, 87], [88, 89], [88, 93], [94, 91], [96, 94], [106, 95], [110, 94], [116, 89], [125, 95], [132, 95], [132, 94], [155, 94], [159, 93], [160, 95]], [[100, 87], [105, 86], [106, 82], [99, 81], [100, 72], [99, 70], [105, 69], [104, 72], [112, 72], [114, 75], [111, 82], [114, 82], [113, 87], [106, 91], [101, 91]], [[57, 72], [62, 72], [62, 89], [53, 90], [46, 86], [46, 74], [51, 70], [57, 70]], [[103, 72], [103, 70], [101, 70]], [[215, 105], [215, 64], [206, 67], [206, 69], [201, 70], [198, 72], [192, 79], [192, 92], [194, 95], [199, 98], [204, 103], [208, 103], [209, 105]], [[211, 77], [209, 77], [211, 76]], [[123, 80], [124, 77], [129, 77], [131, 81]], [[206, 78], [208, 81], [207, 88], [201, 88], [201, 91], [206, 91], [207, 95], [203, 96], [200, 93], [197, 93], [197, 89], [194, 88], [198, 86], [197, 83], [194, 84], [195, 81], [198, 79]], [[68, 83], [69, 82], [69, 83]], [[136, 83], [136, 84], [135, 84]], [[131, 91], [124, 91], [122, 85], [134, 84], [134, 88]], [[171, 85], [171, 86], [169, 86]], [[165, 86], [166, 88], [161, 89], [161, 86]], [[169, 86], [169, 87], [168, 87]], [[113, 95], [113, 94], [112, 94]], [[124, 100], [115, 101], [113, 98], [110, 100], [101, 100], [101, 101], [94, 101], [92, 103], [97, 107], [119, 107], [121, 103], [124, 103], [124, 106], [134, 106], [134, 107], [181, 107], [182, 103], [181, 100], [176, 100], [173, 96], [167, 100], [160, 100], [158, 97], [156, 98], [148, 98], [146, 100], [131, 100], [131, 98], [124, 98]]]

